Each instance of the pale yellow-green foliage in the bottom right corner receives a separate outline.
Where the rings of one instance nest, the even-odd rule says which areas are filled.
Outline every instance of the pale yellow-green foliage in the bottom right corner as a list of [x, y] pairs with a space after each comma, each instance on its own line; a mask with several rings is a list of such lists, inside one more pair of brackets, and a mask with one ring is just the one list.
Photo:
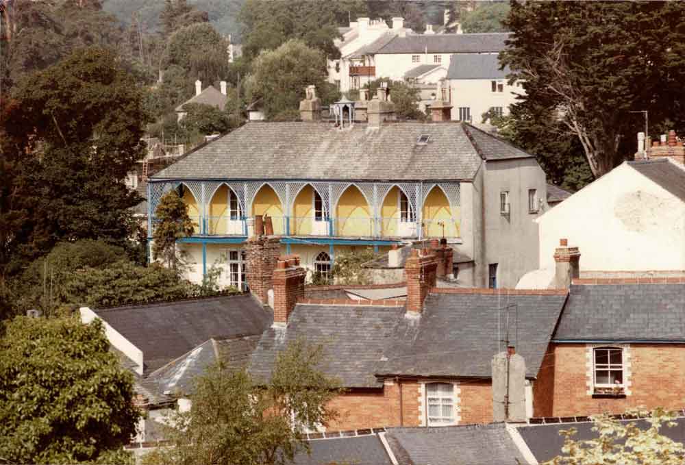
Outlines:
[[[632, 410], [627, 412], [633, 418], [644, 418], [637, 422], [621, 423], [608, 414], [592, 417], [593, 431], [597, 439], [574, 440], [577, 429], [560, 431], [564, 436], [564, 447], [559, 455], [547, 465], [600, 465], [600, 464], [645, 464], [681, 465], [685, 460], [685, 447], [660, 433], [666, 425], [673, 427], [675, 414], [663, 409], [652, 412]], [[641, 423], [640, 422], [640, 423]], [[646, 426], [646, 427], [645, 427]]]

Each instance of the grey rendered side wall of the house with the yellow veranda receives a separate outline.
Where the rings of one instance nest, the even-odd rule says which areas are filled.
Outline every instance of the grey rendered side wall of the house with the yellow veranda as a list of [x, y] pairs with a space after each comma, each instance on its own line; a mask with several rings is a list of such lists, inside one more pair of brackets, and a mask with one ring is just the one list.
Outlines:
[[[486, 165], [486, 257], [497, 263], [497, 284], [514, 288], [525, 273], [538, 268], [539, 235], [535, 219], [547, 210], [545, 173], [533, 158], [488, 161]], [[536, 189], [538, 212], [528, 211], [528, 190]], [[510, 214], [499, 210], [499, 194], [509, 192]]]

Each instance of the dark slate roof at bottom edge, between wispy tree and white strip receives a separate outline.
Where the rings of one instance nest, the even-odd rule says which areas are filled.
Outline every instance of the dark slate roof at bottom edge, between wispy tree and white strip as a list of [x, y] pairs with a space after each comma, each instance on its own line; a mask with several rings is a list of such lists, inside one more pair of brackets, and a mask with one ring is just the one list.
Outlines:
[[392, 465], [381, 440], [375, 434], [351, 438], [308, 441], [311, 454], [300, 451], [295, 465]]

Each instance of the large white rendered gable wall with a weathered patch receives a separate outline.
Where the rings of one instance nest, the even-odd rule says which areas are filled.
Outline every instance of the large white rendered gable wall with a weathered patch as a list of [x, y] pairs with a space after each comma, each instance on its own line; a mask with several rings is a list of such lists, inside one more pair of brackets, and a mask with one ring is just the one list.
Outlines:
[[626, 163], [538, 224], [540, 268], [553, 266], [559, 239], [568, 238], [580, 248], [581, 271], [685, 270], [685, 202]]

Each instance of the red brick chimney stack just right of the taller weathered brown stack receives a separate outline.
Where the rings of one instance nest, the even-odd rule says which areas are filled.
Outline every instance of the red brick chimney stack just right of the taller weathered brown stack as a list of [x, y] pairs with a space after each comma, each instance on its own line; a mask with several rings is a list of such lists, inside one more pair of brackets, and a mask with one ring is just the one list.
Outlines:
[[299, 257], [279, 258], [273, 271], [273, 325], [284, 327], [295, 304], [304, 297], [307, 271], [299, 266]]

